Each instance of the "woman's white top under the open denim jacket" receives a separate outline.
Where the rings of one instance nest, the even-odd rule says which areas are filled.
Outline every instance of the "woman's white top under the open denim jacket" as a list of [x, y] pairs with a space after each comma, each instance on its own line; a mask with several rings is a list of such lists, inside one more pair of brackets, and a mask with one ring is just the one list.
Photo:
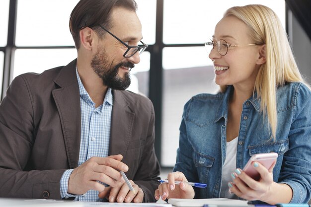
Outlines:
[[237, 199], [235, 194], [229, 193], [228, 183], [232, 182], [231, 174], [236, 169], [236, 149], [237, 149], [237, 137], [227, 142], [226, 159], [223, 165], [222, 173], [222, 188], [220, 192], [220, 198]]

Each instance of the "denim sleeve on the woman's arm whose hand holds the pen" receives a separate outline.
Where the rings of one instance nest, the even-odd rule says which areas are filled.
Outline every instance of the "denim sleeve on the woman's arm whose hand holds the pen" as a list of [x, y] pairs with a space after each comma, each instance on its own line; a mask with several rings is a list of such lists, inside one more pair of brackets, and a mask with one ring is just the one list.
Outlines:
[[182, 172], [189, 182], [199, 182], [197, 170], [193, 161], [193, 148], [187, 137], [185, 122], [187, 105], [188, 104], [186, 104], [184, 107], [184, 113], [179, 128], [179, 148], [177, 149], [176, 164], [174, 166], [173, 172]]

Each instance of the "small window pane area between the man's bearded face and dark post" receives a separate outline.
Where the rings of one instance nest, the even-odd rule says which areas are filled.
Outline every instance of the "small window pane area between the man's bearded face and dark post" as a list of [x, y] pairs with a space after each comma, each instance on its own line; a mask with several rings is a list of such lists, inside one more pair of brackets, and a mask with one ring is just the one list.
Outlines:
[[150, 70], [150, 53], [144, 52], [140, 55], [141, 62], [135, 65], [131, 70], [131, 85], [128, 90], [134, 93], [149, 95], [149, 70]]

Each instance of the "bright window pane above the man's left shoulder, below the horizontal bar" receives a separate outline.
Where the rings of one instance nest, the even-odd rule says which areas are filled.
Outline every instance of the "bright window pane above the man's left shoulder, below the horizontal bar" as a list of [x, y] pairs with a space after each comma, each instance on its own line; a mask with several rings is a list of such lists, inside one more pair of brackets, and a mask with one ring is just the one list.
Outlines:
[[25, 72], [41, 73], [66, 66], [75, 58], [76, 49], [19, 49], [15, 51], [13, 78]]

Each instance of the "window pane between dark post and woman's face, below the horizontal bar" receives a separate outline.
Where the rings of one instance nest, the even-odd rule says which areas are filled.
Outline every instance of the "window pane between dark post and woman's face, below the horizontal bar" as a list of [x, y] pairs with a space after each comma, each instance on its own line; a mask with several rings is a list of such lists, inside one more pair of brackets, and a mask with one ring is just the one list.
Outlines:
[[164, 48], [163, 67], [161, 164], [173, 166], [184, 104], [198, 93], [217, 91], [218, 86], [204, 47]]

